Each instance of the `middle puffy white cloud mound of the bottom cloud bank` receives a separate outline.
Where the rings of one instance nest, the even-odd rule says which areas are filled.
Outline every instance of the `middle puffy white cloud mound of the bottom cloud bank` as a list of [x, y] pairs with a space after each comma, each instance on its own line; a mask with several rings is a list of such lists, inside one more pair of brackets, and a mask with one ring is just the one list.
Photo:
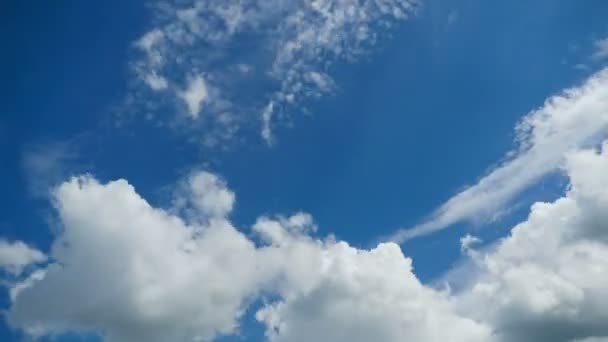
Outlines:
[[[395, 244], [366, 251], [332, 242], [312, 252], [303, 268], [304, 281], [290, 284], [282, 300], [256, 314], [270, 341], [490, 338], [488, 327], [458, 316], [443, 294], [422, 285], [412, 273], [411, 260]], [[295, 265], [291, 272], [299, 275], [302, 269]]]

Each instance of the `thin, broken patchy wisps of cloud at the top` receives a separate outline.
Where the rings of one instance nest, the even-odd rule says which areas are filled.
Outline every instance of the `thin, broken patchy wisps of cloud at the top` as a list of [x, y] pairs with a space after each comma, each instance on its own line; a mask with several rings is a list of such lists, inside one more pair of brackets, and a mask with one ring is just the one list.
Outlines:
[[206, 118], [200, 125], [219, 123], [223, 138], [231, 137], [236, 120], [226, 124], [221, 118], [255, 114], [262, 137], [270, 142], [278, 114], [301, 110], [295, 105], [332, 92], [328, 67], [336, 60], [357, 60], [412, 14], [417, 3], [163, 2], [154, 28], [135, 43], [141, 53], [133, 68], [155, 99], [169, 99], [191, 119]]

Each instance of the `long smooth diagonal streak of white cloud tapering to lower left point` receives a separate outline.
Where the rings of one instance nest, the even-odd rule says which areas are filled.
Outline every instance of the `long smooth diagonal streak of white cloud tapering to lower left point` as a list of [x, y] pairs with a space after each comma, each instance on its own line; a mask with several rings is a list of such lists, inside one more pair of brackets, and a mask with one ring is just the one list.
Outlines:
[[463, 220], [490, 218], [529, 185], [559, 169], [565, 153], [601, 141], [608, 135], [608, 69], [549, 98], [524, 117], [516, 133], [518, 146], [505, 162], [450, 198], [429, 220], [391, 239], [404, 241]]

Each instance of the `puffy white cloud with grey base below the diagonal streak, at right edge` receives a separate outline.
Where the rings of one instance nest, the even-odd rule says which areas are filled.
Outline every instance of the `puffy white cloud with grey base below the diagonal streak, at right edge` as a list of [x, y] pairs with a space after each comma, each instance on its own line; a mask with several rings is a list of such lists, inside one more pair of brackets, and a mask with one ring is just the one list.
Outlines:
[[477, 254], [479, 275], [457, 296], [500, 341], [608, 337], [608, 148], [569, 154], [566, 165], [568, 194], [535, 204], [509, 237]]

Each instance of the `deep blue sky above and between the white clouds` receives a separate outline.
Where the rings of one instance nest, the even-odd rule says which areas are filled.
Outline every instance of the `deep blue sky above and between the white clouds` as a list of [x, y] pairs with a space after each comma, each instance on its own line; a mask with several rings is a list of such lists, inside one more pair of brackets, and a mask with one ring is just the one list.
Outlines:
[[[307, 2], [284, 2], [281, 15], [312, 6], [302, 3]], [[348, 2], [319, 3], [339, 8]], [[587, 88], [591, 98], [593, 91], [605, 91], [600, 70], [608, 55], [608, 44], [602, 52], [601, 43], [608, 37], [608, 4], [600, 0], [427, 0], [411, 8], [404, 5], [411, 10], [406, 18], [374, 17], [379, 10], [370, 5], [361, 10], [375, 20], [341, 26], [328, 16], [324, 29], [330, 37], [344, 38], [302, 40], [304, 49], [294, 55], [285, 52], [293, 41], [290, 30], [297, 37], [319, 27], [314, 24], [317, 19], [307, 21], [305, 14], [302, 22], [288, 26], [260, 6], [256, 15], [262, 19], [243, 15], [243, 26], [226, 35], [228, 21], [218, 28], [205, 17], [215, 2], [200, 4], [193, 7], [200, 17], [180, 17], [191, 20], [186, 24], [176, 24], [176, 16], [167, 14], [192, 8], [184, 1], [165, 7], [135, 1], [2, 5], [1, 31], [8, 52], [0, 57], [0, 68], [8, 76], [1, 89], [0, 117], [3, 240], [23, 241], [52, 264], [60, 257], [51, 245], [62, 236], [62, 226], [70, 223], [62, 222], [56, 207], [61, 199], [49, 198], [49, 189], [85, 173], [102, 184], [125, 179], [153, 207], [172, 213], [179, 209], [174, 207], [176, 192], [181, 191], [176, 184], [194, 170], [205, 170], [225, 181], [220, 188], [227, 186], [235, 194], [234, 208], [228, 210], [230, 222], [256, 244], [262, 242], [252, 226], [260, 216], [289, 217], [298, 212], [314, 218], [314, 239], [333, 234], [361, 250], [398, 236], [394, 234], [400, 229], [432, 227], [422, 229], [422, 237], [396, 240], [413, 259], [416, 277], [433, 287], [470, 259], [461, 250], [465, 234], [492, 248], [513, 225], [526, 220], [532, 203], [568, 196], [568, 179], [575, 173], [562, 165], [562, 154], [599, 146], [606, 135], [605, 103], [598, 101], [597, 115], [587, 114], [592, 111], [585, 98], [579, 106], [582, 114], [577, 114], [577, 104], [564, 109], [567, 115], [580, 115], [572, 122], [589, 122], [573, 132], [569, 124], [560, 126], [560, 104], [545, 103], [572, 87], [583, 89], [581, 97]], [[210, 24], [199, 28], [191, 41], [167, 40], [173, 28], [197, 20]], [[390, 27], [381, 25], [384, 20]], [[283, 35], [266, 31], [265, 25], [287, 26], [282, 26]], [[351, 25], [378, 38], [357, 41]], [[142, 37], [155, 30], [163, 32], [165, 41], [142, 48]], [[213, 40], [212, 33], [226, 36]], [[306, 44], [320, 52], [308, 55], [311, 46]], [[336, 52], [338, 45], [343, 49]], [[151, 57], [157, 55], [162, 56], [160, 66]], [[160, 75], [168, 85], [153, 89], [146, 83], [150, 75]], [[599, 77], [597, 84], [587, 81], [594, 77]], [[195, 101], [202, 109], [192, 111], [184, 94], [195, 80], [202, 80], [205, 90]], [[298, 82], [302, 90], [294, 90]], [[585, 88], [588, 83], [592, 85]], [[289, 92], [295, 94], [294, 101], [285, 95]], [[268, 119], [264, 112], [269, 104], [273, 111]], [[537, 109], [544, 114], [538, 117], [549, 119], [533, 120], [537, 126], [531, 126], [554, 125], [548, 130], [558, 134], [563, 129], [563, 151], [547, 147], [542, 136], [522, 138], [516, 133], [518, 122], [526, 115], [534, 117]], [[559, 120], [551, 121], [552, 115]], [[549, 145], [557, 146], [549, 138]], [[533, 152], [526, 154], [526, 149]], [[530, 179], [522, 180], [525, 177], [517, 173], [521, 171], [509, 169], [520, 161], [530, 164]], [[505, 166], [506, 176], [492, 181], [495, 171]], [[490, 181], [480, 182], [484, 176]], [[476, 188], [479, 184], [483, 188]], [[476, 189], [493, 193], [503, 184], [505, 194], [490, 197], [491, 205], [475, 203], [464, 214], [459, 211], [469, 200], [461, 201], [458, 194], [473, 189], [472, 197], [479, 198]], [[146, 234], [145, 227], [141, 234]], [[7, 312], [12, 310], [9, 289], [37, 267], [47, 266], [27, 266], [17, 275], [5, 272], [2, 305]], [[282, 295], [268, 296], [271, 300]], [[253, 317], [260, 299], [255, 302], [257, 306], [237, 320], [240, 333], [231, 339], [265, 340], [263, 323]], [[34, 319], [44, 323], [40, 317]], [[112, 329], [92, 320], [86, 323], [92, 333], [103, 335], [108, 334], [104, 329]], [[22, 317], [15, 322], [13, 327], [2, 322], [2, 340], [25, 338], [19, 329], [33, 321]], [[86, 325], [58, 322], [65, 325], [59, 333]], [[121, 341], [116, 336], [114, 340]], [[317, 338], [331, 341], [328, 336]], [[572, 336], [574, 341], [595, 335]], [[273, 338], [300, 337], [268, 337]]]

